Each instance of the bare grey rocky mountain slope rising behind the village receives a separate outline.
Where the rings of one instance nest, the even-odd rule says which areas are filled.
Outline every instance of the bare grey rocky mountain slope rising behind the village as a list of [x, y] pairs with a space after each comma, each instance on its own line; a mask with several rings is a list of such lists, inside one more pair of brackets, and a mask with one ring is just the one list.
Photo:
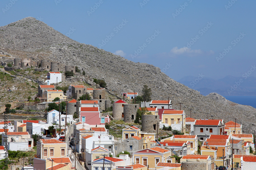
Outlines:
[[193, 108], [191, 117], [206, 119], [206, 113], [209, 113], [212, 119], [224, 119], [225, 122], [236, 117], [245, 132], [251, 133], [255, 129], [255, 108], [216, 100], [217, 94], [203, 96], [153, 65], [135, 63], [92, 45], [73, 41], [32, 17], [0, 27], [0, 47], [14, 57], [33, 61], [47, 58], [61, 62], [63, 66], [78, 66], [87, 76], [104, 79], [107, 88], [118, 94], [122, 89], [141, 94], [143, 85], [148, 85], [152, 89], [152, 99], [167, 100], [169, 97], [174, 109], [179, 109], [178, 102], [182, 102], [181, 108], [186, 113], [190, 113], [188, 108]]

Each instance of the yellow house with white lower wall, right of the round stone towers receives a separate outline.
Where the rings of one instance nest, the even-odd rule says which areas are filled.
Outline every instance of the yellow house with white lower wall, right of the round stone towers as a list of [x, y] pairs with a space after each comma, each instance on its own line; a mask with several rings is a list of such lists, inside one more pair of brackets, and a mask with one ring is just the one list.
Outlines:
[[186, 132], [186, 114], [184, 110], [164, 110], [162, 123], [168, 124], [172, 129]]

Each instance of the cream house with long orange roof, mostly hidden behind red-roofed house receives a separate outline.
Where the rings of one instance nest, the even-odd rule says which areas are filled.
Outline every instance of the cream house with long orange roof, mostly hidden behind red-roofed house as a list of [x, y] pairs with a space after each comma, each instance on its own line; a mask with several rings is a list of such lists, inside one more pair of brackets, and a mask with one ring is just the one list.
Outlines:
[[198, 146], [198, 138], [197, 135], [174, 135], [165, 139], [162, 139], [161, 142], [164, 142], [166, 140], [172, 140], [172, 141], [189, 141], [190, 142], [190, 153], [191, 155], [197, 155], [197, 146]]

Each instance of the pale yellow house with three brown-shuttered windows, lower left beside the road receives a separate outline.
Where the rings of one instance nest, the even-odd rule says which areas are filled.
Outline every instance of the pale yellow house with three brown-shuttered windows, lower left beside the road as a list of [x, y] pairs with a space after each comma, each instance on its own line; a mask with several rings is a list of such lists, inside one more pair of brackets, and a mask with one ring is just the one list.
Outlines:
[[36, 148], [35, 158], [47, 159], [67, 156], [67, 143], [56, 139], [39, 139]]

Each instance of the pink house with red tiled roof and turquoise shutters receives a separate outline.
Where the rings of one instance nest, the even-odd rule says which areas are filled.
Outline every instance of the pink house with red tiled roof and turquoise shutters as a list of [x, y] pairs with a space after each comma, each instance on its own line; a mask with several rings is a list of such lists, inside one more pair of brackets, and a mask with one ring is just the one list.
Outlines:
[[80, 122], [89, 125], [105, 125], [106, 122], [110, 122], [109, 116], [101, 116], [99, 107], [80, 107], [79, 119]]

